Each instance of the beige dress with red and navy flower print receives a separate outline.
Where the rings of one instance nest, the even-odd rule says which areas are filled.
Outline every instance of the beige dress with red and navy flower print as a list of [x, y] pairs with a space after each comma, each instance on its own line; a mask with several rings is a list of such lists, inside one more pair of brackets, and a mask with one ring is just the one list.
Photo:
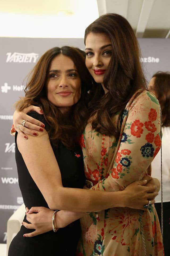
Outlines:
[[[117, 116], [113, 122], [117, 121]], [[91, 189], [123, 190], [133, 181], [151, 175], [151, 162], [160, 150], [160, 107], [154, 95], [139, 90], [128, 102], [120, 120], [118, 140], [92, 130], [81, 138], [86, 178]], [[155, 207], [142, 214], [148, 256], [162, 255], [162, 236]], [[78, 256], [144, 256], [138, 210], [111, 208], [81, 218]]]

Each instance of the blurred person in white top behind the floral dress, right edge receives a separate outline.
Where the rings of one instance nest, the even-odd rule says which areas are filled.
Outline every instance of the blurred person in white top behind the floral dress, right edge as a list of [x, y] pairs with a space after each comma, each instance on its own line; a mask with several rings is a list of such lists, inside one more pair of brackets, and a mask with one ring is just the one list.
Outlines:
[[[162, 111], [163, 242], [165, 255], [170, 255], [170, 73], [155, 73], [148, 89], [158, 99]], [[161, 181], [160, 151], [152, 162], [152, 173]], [[161, 193], [156, 197], [155, 208], [161, 223]]]

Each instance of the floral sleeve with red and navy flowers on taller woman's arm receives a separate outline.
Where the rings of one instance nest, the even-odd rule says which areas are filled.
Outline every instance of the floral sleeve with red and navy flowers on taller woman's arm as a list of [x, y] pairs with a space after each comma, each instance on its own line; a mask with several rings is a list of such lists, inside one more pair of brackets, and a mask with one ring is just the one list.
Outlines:
[[[107, 136], [101, 143], [107, 145]], [[110, 138], [112, 140], [112, 138]], [[110, 144], [110, 143], [109, 143]], [[108, 146], [109, 146], [108, 144]], [[93, 190], [123, 190], [133, 181], [141, 180], [150, 174], [148, 168], [161, 146], [160, 107], [157, 99], [148, 91], [143, 91], [127, 104], [121, 118], [120, 138], [113, 149], [114, 157], [109, 159], [109, 148], [101, 149], [101, 163], [105, 163], [108, 155], [110, 164], [106, 177], [102, 177], [103, 165], [100, 163], [99, 182]], [[105, 154], [104, 154], [105, 153]]]

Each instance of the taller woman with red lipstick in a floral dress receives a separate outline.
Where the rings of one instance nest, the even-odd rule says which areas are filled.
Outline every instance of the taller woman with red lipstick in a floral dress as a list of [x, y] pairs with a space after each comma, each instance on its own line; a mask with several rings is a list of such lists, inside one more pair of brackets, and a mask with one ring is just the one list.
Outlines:
[[[86, 29], [85, 45], [86, 66], [94, 79], [91, 117], [81, 137], [85, 175], [93, 190], [124, 190], [151, 175], [151, 162], [161, 146], [159, 103], [146, 90], [137, 39], [125, 18], [99, 17]], [[135, 209], [84, 215], [77, 255], [162, 255], [155, 207], [141, 214], [143, 230]]]

